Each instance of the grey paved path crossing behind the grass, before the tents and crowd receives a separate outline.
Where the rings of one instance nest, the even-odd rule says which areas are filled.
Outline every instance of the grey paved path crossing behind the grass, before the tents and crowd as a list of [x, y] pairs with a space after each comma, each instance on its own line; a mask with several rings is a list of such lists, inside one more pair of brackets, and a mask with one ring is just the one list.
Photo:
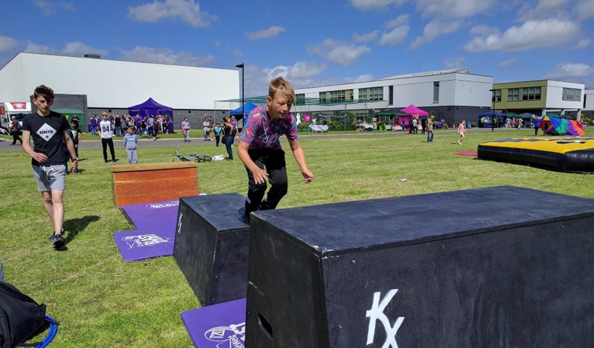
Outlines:
[[[508, 130], [505, 128], [499, 128], [502, 130]], [[498, 131], [499, 129], [495, 129], [495, 131]], [[527, 129], [527, 128], [526, 128]], [[455, 133], [456, 129], [448, 129], [447, 131], [438, 131], [435, 132], [435, 136], [437, 137], [439, 134], [451, 134], [451, 133]], [[471, 132], [491, 132], [490, 128], [472, 128]], [[89, 137], [89, 134], [84, 134], [83, 137]], [[419, 132], [419, 135], [409, 135], [408, 132], [402, 132], [402, 131], [396, 131], [396, 132], [358, 132], [355, 134], [332, 134], [331, 132], [328, 134], [315, 134], [315, 135], [311, 135], [311, 134], [307, 134], [307, 133], [299, 133], [299, 139], [319, 139], [319, 140], [323, 140], [324, 138], [364, 138], [364, 137], [401, 137], [401, 136], [410, 136], [410, 137], [419, 137], [419, 139], [421, 138], [426, 138], [425, 134], [421, 134], [421, 132]], [[284, 138], [284, 137], [283, 137]], [[204, 141], [203, 138], [192, 138], [191, 143], [184, 143], [184, 141], [182, 140], [182, 138], [179, 139], [157, 139], [156, 141], [153, 141], [152, 139], [147, 139], [147, 138], [140, 138], [138, 139], [138, 142], [141, 143], [141, 147], [170, 147], [170, 146], [177, 146], [180, 145], [180, 147], [188, 147], [188, 146], [192, 146], [192, 145], [211, 145], [214, 147], [215, 142], [214, 141]], [[21, 148], [20, 145], [16, 146], [10, 146], [10, 144], [12, 143], [12, 139], [11, 140], [6, 140], [4, 138], [0, 138], [0, 151], [23, 151], [23, 149]], [[32, 143], [31, 143], [32, 145]], [[113, 138], [113, 145], [115, 146], [115, 148], [124, 148], [124, 144], [122, 144], [122, 137], [114, 137]], [[220, 146], [219, 146], [220, 147]], [[78, 144], [78, 148], [80, 150], [101, 150], [102, 149], [102, 145], [101, 145], [101, 141], [99, 140], [98, 137], [96, 137], [94, 140], [82, 140], [80, 141], [80, 143]], [[225, 147], [223, 146], [223, 150], [225, 149]]]

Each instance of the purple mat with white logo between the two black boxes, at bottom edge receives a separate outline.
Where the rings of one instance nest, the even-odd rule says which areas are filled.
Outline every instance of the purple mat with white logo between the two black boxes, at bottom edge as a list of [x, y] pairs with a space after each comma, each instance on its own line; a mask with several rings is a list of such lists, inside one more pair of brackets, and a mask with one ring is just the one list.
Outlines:
[[182, 321], [197, 348], [245, 347], [245, 299], [182, 312]]

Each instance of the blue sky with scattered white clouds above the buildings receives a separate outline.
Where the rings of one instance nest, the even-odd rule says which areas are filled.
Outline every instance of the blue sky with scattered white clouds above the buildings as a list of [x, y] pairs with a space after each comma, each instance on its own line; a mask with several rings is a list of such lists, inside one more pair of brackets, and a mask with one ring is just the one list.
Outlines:
[[[594, 87], [594, 0], [2, 0], [0, 64], [20, 51], [213, 68], [245, 94], [467, 67]], [[43, 81], [40, 81], [43, 83]]]

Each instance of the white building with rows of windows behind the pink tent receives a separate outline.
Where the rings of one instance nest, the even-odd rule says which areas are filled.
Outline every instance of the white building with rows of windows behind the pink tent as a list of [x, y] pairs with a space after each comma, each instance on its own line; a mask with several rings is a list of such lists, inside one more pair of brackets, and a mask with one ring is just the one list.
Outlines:
[[[381, 80], [332, 86], [296, 88], [299, 98], [318, 98], [321, 103], [342, 103], [323, 106], [324, 110], [374, 109], [400, 110], [413, 104], [448, 124], [486, 112], [491, 107], [493, 77], [470, 74], [467, 68], [397, 75]], [[368, 102], [354, 103], [356, 100]], [[310, 106], [293, 107], [294, 112], [307, 112]]]

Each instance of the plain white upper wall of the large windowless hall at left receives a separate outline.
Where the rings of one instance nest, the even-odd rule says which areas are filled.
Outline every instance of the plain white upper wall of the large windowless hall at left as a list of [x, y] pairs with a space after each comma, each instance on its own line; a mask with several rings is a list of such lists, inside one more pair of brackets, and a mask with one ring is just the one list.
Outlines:
[[152, 97], [184, 110], [213, 110], [239, 97], [239, 71], [20, 52], [0, 69], [0, 101], [29, 102], [36, 86], [86, 95], [90, 109], [126, 109]]

